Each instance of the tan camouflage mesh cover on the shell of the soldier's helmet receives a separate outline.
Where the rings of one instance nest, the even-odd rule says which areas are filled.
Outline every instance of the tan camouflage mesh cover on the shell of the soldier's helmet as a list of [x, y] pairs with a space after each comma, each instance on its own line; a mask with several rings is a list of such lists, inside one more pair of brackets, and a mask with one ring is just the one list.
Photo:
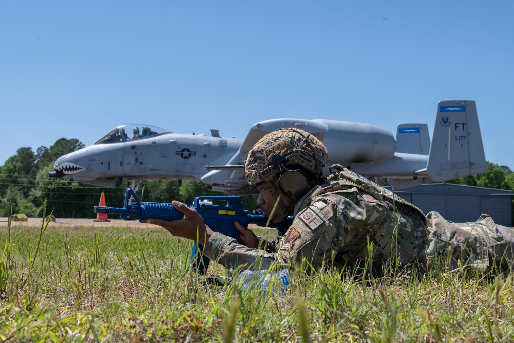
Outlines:
[[313, 146], [315, 150], [314, 153], [318, 160], [318, 172], [321, 173], [328, 157], [327, 150], [323, 143], [314, 135], [300, 129], [280, 129], [266, 134], [248, 152], [245, 161], [246, 181], [249, 184], [261, 182], [259, 173], [265, 166], [271, 163], [271, 157], [276, 153], [287, 157], [287, 155], [294, 150], [303, 150], [309, 155], [313, 155], [309, 143], [307, 143], [299, 132], [305, 135]]

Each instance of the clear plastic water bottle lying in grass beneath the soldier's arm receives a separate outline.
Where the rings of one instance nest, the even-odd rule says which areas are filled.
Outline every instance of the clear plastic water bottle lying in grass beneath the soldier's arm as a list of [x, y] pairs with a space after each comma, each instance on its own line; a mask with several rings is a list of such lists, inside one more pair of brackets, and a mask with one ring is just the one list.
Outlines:
[[271, 273], [268, 270], [245, 270], [237, 276], [237, 282], [245, 290], [250, 288], [267, 289], [270, 285], [273, 288], [287, 290], [291, 279], [291, 273], [287, 269], [282, 269], [278, 273]]

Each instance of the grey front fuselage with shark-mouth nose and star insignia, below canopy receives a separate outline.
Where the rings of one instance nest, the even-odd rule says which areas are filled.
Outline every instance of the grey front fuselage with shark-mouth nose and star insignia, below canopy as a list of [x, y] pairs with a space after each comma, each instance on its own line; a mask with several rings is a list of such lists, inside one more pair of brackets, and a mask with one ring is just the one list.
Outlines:
[[[95, 144], [60, 157], [57, 173], [84, 183], [98, 179], [199, 180], [208, 164], [225, 164], [242, 140], [205, 134], [162, 133], [109, 144]], [[109, 182], [107, 182], [109, 183]], [[111, 182], [114, 186], [114, 181]]]

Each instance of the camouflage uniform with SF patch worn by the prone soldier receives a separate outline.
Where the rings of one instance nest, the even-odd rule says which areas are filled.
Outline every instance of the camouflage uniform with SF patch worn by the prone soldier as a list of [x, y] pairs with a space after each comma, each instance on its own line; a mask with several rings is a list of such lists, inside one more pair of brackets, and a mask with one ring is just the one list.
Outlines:
[[[296, 204], [295, 219], [277, 250], [248, 248], [235, 239], [215, 232], [205, 245], [205, 254], [230, 268], [266, 269], [273, 263], [293, 263], [305, 257], [311, 265], [354, 268], [373, 243], [372, 269], [398, 262], [430, 268], [436, 256], [451, 268], [460, 264], [485, 271], [490, 261], [511, 268], [514, 230], [495, 225], [488, 215], [474, 223], [454, 224], [437, 212], [426, 217], [413, 204], [389, 190], [339, 165], [326, 182], [314, 187]], [[296, 256], [296, 261], [293, 261]], [[443, 262], [446, 263], [447, 262]]]

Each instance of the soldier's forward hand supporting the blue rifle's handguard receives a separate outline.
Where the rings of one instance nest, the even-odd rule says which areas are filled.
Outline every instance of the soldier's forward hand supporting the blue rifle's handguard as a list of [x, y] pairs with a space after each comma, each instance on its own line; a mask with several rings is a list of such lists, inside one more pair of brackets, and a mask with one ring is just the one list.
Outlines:
[[189, 238], [193, 241], [197, 241], [198, 244], [205, 245], [205, 242], [209, 240], [209, 237], [214, 232], [205, 225], [204, 218], [202, 218], [198, 212], [187, 207], [180, 201], [174, 200], [171, 204], [175, 209], [184, 214], [182, 219], [172, 221], [164, 219], [146, 219], [146, 222], [148, 222], [148, 224], [162, 226], [174, 236]]

